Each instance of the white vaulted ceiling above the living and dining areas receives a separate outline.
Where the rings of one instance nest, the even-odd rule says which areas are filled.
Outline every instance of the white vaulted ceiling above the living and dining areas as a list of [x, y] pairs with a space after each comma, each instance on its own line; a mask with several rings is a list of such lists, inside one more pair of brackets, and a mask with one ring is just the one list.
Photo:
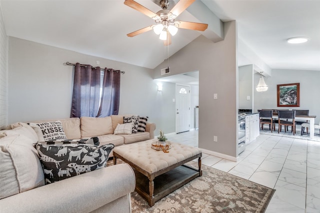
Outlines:
[[[151, 69], [201, 35], [179, 29], [167, 47], [152, 30], [127, 37], [154, 22], [123, 1], [0, 0], [0, 5], [8, 36]], [[136, 1], [153, 12], [161, 9], [159, 0]], [[320, 0], [196, 0], [176, 20], [208, 23], [202, 34], [216, 42], [215, 16], [236, 20], [238, 38], [270, 68], [320, 70]], [[310, 40], [286, 42], [296, 36]], [[254, 63], [242, 56], [239, 65]]]

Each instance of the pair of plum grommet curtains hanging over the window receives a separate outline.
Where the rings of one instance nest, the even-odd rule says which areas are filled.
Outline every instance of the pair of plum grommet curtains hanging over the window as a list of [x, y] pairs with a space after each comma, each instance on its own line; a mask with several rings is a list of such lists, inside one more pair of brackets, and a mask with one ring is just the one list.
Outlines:
[[120, 72], [76, 63], [70, 117], [117, 115]]

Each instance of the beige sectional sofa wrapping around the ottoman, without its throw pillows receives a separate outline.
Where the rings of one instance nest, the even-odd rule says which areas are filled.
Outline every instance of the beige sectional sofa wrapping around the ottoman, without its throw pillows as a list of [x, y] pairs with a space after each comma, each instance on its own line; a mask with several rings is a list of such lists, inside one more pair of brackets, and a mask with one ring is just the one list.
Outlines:
[[[51, 119], [62, 123], [67, 139], [97, 136], [100, 145], [120, 146], [154, 138], [155, 124], [145, 132], [113, 135], [122, 115], [106, 118]], [[32, 121], [32, 123], [43, 121]], [[130, 213], [135, 177], [131, 167], [118, 164], [44, 185], [43, 170], [33, 143], [35, 131], [15, 123], [0, 131], [0, 212], [5, 213]], [[110, 155], [112, 156], [112, 154]]]

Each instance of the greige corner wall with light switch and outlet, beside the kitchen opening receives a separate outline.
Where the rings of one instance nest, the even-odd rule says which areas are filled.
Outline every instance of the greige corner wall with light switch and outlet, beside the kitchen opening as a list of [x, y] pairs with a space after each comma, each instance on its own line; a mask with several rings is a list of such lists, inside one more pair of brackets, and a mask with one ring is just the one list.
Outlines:
[[[224, 40], [213, 43], [200, 35], [169, 58], [170, 75], [199, 70], [198, 147], [237, 156], [238, 74], [236, 22], [224, 22]], [[165, 62], [167, 63], [167, 62]], [[157, 66], [154, 78], [160, 78]], [[213, 99], [213, 94], [217, 99]], [[217, 142], [213, 142], [217, 136]]]

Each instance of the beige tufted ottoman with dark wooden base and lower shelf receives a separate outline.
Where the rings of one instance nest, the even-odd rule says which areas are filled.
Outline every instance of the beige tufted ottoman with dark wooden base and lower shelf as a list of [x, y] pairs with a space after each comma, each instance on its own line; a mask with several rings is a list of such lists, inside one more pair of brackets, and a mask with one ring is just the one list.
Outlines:
[[[169, 153], [151, 149], [152, 141], [141, 141], [115, 147], [113, 164], [119, 158], [129, 164], [135, 173], [135, 191], [149, 206], [189, 181], [202, 175], [201, 150], [173, 143]], [[183, 165], [198, 158], [198, 169]]]

